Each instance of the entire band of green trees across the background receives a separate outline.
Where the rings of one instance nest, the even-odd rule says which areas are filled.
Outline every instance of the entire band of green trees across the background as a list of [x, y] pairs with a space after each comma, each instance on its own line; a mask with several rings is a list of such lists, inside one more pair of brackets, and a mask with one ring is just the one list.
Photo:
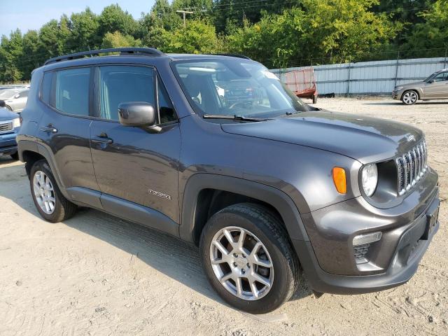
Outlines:
[[[193, 12], [186, 27], [176, 10]], [[0, 82], [29, 80], [49, 57], [97, 48], [235, 52], [283, 67], [395, 58], [398, 50], [444, 55], [437, 48], [447, 41], [448, 0], [156, 0], [139, 20], [118, 4], [99, 14], [87, 7], [38, 31], [1, 36]]]

